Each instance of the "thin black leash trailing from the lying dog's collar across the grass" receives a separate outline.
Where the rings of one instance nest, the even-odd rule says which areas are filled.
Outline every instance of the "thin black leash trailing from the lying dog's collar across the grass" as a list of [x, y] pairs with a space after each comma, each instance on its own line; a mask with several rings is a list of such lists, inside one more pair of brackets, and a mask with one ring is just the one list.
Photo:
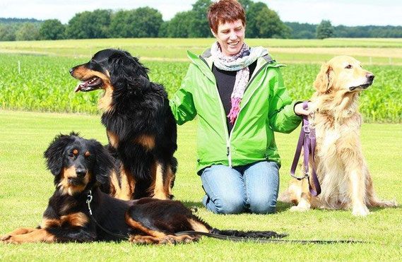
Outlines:
[[[88, 204], [88, 211], [90, 218], [92, 218], [93, 222], [100, 227], [101, 230], [105, 231], [107, 234], [110, 234], [113, 237], [117, 237], [118, 239], [129, 239], [129, 235], [125, 234], [116, 234], [107, 230], [105, 227], [102, 227], [97, 220], [95, 219], [92, 209], [90, 208], [90, 203], [92, 202], [93, 196], [92, 192], [88, 191], [88, 196], [86, 203]], [[254, 242], [254, 243], [295, 243], [295, 244], [340, 244], [340, 243], [348, 243], [348, 244], [362, 244], [367, 242], [355, 241], [355, 240], [293, 240], [293, 239], [264, 239], [264, 238], [254, 238], [254, 237], [235, 237], [235, 236], [225, 236], [223, 234], [211, 234], [206, 232], [199, 231], [182, 231], [175, 233], [175, 236], [179, 237], [184, 234], [188, 235], [201, 235], [206, 237], [212, 237], [215, 239], [223, 239], [223, 240], [231, 240], [234, 242]]]

